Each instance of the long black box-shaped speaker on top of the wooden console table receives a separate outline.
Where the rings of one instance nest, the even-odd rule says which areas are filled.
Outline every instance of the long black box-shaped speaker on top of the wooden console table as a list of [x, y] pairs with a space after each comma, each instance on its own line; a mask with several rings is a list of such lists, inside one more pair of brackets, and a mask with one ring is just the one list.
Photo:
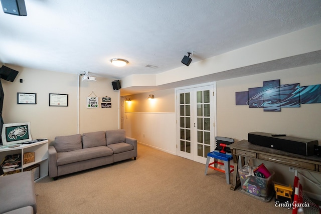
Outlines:
[[264, 132], [248, 133], [248, 141], [256, 145], [305, 156], [314, 155], [314, 145], [318, 145], [317, 140], [290, 137], [286, 136], [285, 134], [270, 134]]

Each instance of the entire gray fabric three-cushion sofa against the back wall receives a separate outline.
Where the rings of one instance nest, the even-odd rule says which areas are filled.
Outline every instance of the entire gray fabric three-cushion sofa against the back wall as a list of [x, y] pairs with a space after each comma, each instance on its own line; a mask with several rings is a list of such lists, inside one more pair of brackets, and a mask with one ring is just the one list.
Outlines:
[[58, 176], [137, 157], [137, 140], [124, 129], [55, 137], [49, 146], [49, 176]]

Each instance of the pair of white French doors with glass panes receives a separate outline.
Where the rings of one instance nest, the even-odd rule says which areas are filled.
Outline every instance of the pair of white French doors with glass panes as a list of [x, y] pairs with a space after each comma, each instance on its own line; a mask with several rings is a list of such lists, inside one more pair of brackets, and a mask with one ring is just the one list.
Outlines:
[[177, 90], [177, 154], [206, 163], [215, 148], [214, 86]]

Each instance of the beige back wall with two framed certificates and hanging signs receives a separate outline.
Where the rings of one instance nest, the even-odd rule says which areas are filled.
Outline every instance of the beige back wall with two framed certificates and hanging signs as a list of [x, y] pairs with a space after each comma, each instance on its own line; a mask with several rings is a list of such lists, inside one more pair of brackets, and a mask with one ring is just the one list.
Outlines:
[[[14, 82], [1, 80], [5, 98], [5, 123], [31, 122], [33, 139], [76, 134], [78, 132], [78, 75], [9, 66], [19, 71]], [[20, 83], [23, 79], [23, 83]], [[97, 78], [96, 82], [80, 81], [80, 133], [118, 128], [118, 91], [111, 81]], [[110, 109], [87, 109], [85, 99], [91, 92], [111, 97]], [[17, 104], [17, 93], [36, 93], [37, 104]], [[49, 93], [68, 94], [68, 107], [50, 107]]]

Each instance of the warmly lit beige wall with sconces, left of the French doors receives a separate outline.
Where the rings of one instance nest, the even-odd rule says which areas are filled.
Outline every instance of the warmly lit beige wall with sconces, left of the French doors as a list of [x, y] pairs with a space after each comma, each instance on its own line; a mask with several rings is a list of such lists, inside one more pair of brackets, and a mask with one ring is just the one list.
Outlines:
[[[149, 94], [154, 95], [148, 100]], [[176, 155], [175, 90], [160, 90], [127, 96], [126, 134], [139, 143]]]

